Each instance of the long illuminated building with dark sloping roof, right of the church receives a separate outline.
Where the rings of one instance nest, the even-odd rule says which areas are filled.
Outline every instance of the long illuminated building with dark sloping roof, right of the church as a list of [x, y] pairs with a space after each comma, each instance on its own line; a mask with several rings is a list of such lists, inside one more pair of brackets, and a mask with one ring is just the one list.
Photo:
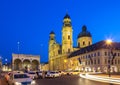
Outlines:
[[68, 56], [68, 68], [80, 71], [120, 72], [120, 43], [112, 42], [111, 46], [106, 41], [81, 48]]

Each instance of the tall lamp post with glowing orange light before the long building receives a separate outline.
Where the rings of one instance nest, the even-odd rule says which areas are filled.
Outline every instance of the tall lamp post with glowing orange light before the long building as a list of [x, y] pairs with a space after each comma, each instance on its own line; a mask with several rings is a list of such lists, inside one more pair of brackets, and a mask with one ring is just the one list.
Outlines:
[[111, 77], [111, 74], [110, 74], [110, 68], [111, 68], [111, 53], [112, 52], [112, 48], [111, 48], [111, 45], [112, 45], [112, 40], [111, 39], [107, 39], [106, 40], [106, 44], [108, 46], [108, 49], [110, 50], [110, 54], [108, 54], [108, 74], [109, 74], [109, 77]]

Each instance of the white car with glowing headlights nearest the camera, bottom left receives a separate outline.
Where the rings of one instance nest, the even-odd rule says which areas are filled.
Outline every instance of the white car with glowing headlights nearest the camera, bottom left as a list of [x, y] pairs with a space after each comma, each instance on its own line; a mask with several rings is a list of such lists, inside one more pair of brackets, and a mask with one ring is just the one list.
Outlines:
[[36, 85], [36, 82], [26, 73], [13, 73], [10, 75], [9, 81], [12, 85]]

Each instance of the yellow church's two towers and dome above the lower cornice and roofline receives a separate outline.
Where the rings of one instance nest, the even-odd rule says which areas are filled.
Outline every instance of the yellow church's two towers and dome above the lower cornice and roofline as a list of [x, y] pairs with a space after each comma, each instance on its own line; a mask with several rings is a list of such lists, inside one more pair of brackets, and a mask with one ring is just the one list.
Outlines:
[[71, 19], [70, 16], [66, 14], [64, 16], [63, 26], [62, 26], [62, 45], [56, 43], [55, 33], [53, 31], [50, 33], [50, 39], [49, 39], [50, 65], [52, 65], [51, 61], [53, 62], [57, 58], [57, 56], [71, 53], [77, 49], [92, 44], [92, 36], [90, 32], [87, 31], [87, 27], [85, 25], [82, 27], [82, 32], [80, 32], [77, 37], [77, 47], [73, 47], [72, 33], [73, 33], [73, 29], [72, 29]]

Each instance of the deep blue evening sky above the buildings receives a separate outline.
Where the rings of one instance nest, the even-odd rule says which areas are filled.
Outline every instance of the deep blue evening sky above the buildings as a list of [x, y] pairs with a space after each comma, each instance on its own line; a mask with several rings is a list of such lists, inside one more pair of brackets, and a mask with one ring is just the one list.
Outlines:
[[93, 43], [112, 37], [120, 41], [120, 0], [0, 0], [0, 56], [11, 61], [12, 53], [40, 55], [48, 61], [50, 31], [61, 43], [62, 21], [71, 17], [74, 46], [86, 25]]

